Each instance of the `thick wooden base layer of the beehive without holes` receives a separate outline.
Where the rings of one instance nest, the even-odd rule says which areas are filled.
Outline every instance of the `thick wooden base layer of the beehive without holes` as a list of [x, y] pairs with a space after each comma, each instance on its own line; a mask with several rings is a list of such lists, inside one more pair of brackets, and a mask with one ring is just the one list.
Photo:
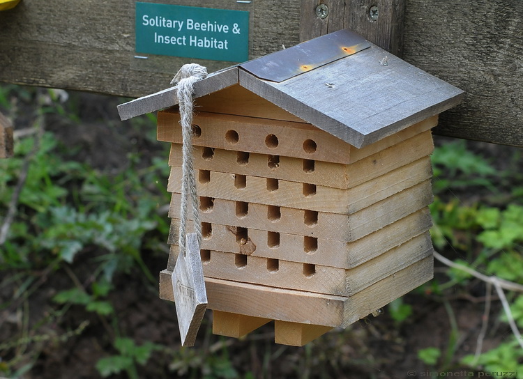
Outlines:
[[[312, 325], [347, 327], [432, 279], [432, 256], [351, 297], [206, 279], [209, 309]], [[170, 272], [160, 273], [160, 297], [173, 300]]]

